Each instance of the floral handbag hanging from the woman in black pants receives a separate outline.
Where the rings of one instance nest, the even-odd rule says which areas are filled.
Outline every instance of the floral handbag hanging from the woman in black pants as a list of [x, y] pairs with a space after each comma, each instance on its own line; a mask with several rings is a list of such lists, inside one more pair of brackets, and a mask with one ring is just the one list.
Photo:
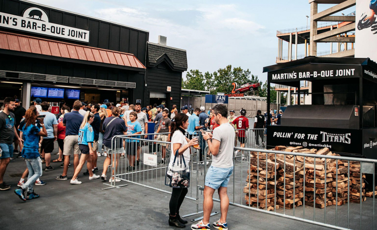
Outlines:
[[[190, 187], [190, 165], [186, 165], [184, 161], [184, 157], [180, 156], [180, 167], [179, 160], [177, 161], [177, 166], [174, 167], [177, 156], [178, 150], [175, 152], [174, 161], [172, 166], [167, 166], [166, 175], [165, 175], [165, 185], [169, 185], [170, 187], [175, 187], [179, 189], [183, 189], [185, 187]], [[172, 156], [171, 156], [172, 157]], [[183, 164], [182, 164], [183, 160]], [[177, 169], [178, 168], [178, 169]]]

